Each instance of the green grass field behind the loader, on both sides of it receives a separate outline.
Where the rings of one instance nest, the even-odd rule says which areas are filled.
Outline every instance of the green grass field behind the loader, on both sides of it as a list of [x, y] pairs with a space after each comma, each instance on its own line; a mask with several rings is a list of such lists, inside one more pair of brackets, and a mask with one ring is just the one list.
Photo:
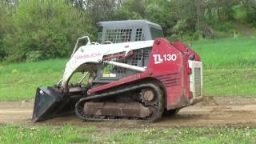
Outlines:
[[[202, 58], [206, 96], [255, 96], [256, 39], [227, 38], [193, 42]], [[0, 101], [34, 98], [38, 86], [53, 86], [66, 59], [0, 63]]]

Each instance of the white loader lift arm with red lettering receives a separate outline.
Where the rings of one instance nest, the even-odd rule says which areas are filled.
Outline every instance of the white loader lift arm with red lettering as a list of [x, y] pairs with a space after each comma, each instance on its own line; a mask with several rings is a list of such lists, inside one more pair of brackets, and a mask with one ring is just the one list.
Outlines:
[[[123, 42], [123, 43], [113, 43], [113, 44], [96, 44], [86, 46], [81, 46], [78, 50], [74, 50], [74, 54], [70, 58], [70, 61], [66, 63], [65, 72], [62, 78], [62, 85], [66, 86], [72, 74], [79, 66], [86, 63], [101, 63], [104, 55], [115, 54], [120, 52], [126, 52], [130, 50], [137, 50], [146, 47], [153, 46], [154, 41], [140, 41], [140, 42]], [[76, 48], [75, 48], [76, 49]], [[92, 67], [88, 66], [84, 71], [90, 71]]]

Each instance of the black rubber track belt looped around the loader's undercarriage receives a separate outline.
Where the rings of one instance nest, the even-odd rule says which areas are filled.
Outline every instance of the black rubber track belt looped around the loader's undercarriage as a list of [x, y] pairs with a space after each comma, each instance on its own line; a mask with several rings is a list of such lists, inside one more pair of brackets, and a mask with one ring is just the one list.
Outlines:
[[[84, 105], [85, 102], [89, 102], [91, 100], [96, 100], [96, 99], [100, 99], [100, 98], [107, 98], [107, 97], [111, 97], [111, 96], [117, 96], [116, 94], [120, 94], [118, 95], [118, 97], [122, 96], [122, 93], [128, 92], [130, 90], [139, 90], [139, 89], [143, 89], [143, 88], [152, 88], [154, 90], [154, 92], [158, 95], [158, 114], [154, 115], [153, 118], [150, 119], [140, 119], [138, 121], [143, 121], [143, 122], [156, 122], [159, 118], [162, 118], [162, 114], [164, 111], [164, 98], [163, 98], [163, 92], [162, 90], [159, 88], [158, 85], [153, 84], [153, 83], [143, 83], [143, 84], [139, 84], [138, 86], [127, 86], [127, 88], [122, 89], [122, 90], [112, 90], [110, 92], [104, 93], [104, 94], [97, 94], [94, 96], [89, 96], [86, 98], [81, 98], [75, 105], [75, 114], [78, 116], [78, 118], [81, 118], [84, 121], [93, 121], [93, 122], [102, 122], [102, 121], [117, 121], [120, 119], [109, 119], [109, 118], [86, 118], [83, 117], [83, 114], [79, 113], [79, 107], [83, 107], [80, 106], [81, 104]], [[82, 110], [83, 111], [83, 110]], [[134, 119], [136, 120], [136, 119]]]

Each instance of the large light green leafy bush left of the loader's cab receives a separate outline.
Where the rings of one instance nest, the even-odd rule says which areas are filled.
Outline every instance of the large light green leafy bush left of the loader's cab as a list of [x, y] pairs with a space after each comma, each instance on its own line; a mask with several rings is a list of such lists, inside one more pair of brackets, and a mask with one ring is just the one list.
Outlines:
[[13, 32], [4, 38], [10, 61], [65, 57], [76, 38], [94, 30], [89, 14], [62, 0], [21, 0], [11, 18]]

